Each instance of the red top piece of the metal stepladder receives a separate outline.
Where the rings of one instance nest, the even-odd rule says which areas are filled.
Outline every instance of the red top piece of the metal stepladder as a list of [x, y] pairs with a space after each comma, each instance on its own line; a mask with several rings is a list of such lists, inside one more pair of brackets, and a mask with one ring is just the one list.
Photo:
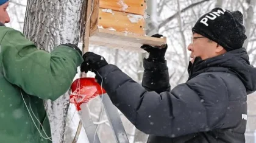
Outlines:
[[80, 105], [87, 103], [90, 99], [106, 93], [96, 82], [95, 78], [84, 77], [76, 79], [71, 85], [70, 102], [76, 104], [77, 111], [81, 110]]

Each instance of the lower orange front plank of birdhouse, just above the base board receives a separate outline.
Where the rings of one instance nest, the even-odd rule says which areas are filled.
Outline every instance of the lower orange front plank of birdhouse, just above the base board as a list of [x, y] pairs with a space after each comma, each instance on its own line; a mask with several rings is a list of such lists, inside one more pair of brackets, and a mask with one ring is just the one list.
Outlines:
[[145, 35], [143, 16], [110, 9], [99, 9], [98, 26], [104, 29], [115, 29], [117, 32]]

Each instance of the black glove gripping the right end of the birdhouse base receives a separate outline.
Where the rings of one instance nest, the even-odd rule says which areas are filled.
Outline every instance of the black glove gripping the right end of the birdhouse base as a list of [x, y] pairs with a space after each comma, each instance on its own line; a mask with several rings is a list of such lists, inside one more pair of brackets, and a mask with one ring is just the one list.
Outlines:
[[[152, 37], [163, 37], [163, 35], [155, 34], [152, 35]], [[144, 44], [141, 46], [141, 49], [144, 49], [144, 51], [147, 51], [149, 53], [148, 61], [156, 61], [156, 62], [165, 62], [165, 52], [167, 50], [168, 45], [164, 44], [162, 46], [153, 47], [149, 46], [147, 44]]]

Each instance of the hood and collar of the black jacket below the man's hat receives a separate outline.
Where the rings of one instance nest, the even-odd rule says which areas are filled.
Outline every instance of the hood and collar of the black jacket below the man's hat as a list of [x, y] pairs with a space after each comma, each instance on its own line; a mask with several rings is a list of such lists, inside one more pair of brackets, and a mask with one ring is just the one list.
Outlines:
[[246, 49], [229, 51], [206, 60], [196, 57], [188, 66], [188, 80], [202, 72], [229, 72], [235, 74], [243, 82], [247, 93], [256, 91], [256, 68], [250, 65]]

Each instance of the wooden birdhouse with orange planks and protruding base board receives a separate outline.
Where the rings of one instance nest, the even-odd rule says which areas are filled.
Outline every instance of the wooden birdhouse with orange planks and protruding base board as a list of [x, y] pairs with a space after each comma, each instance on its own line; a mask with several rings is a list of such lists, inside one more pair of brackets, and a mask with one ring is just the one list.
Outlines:
[[130, 51], [141, 51], [142, 44], [166, 44], [166, 37], [146, 35], [146, 8], [144, 0], [88, 0], [87, 41]]

